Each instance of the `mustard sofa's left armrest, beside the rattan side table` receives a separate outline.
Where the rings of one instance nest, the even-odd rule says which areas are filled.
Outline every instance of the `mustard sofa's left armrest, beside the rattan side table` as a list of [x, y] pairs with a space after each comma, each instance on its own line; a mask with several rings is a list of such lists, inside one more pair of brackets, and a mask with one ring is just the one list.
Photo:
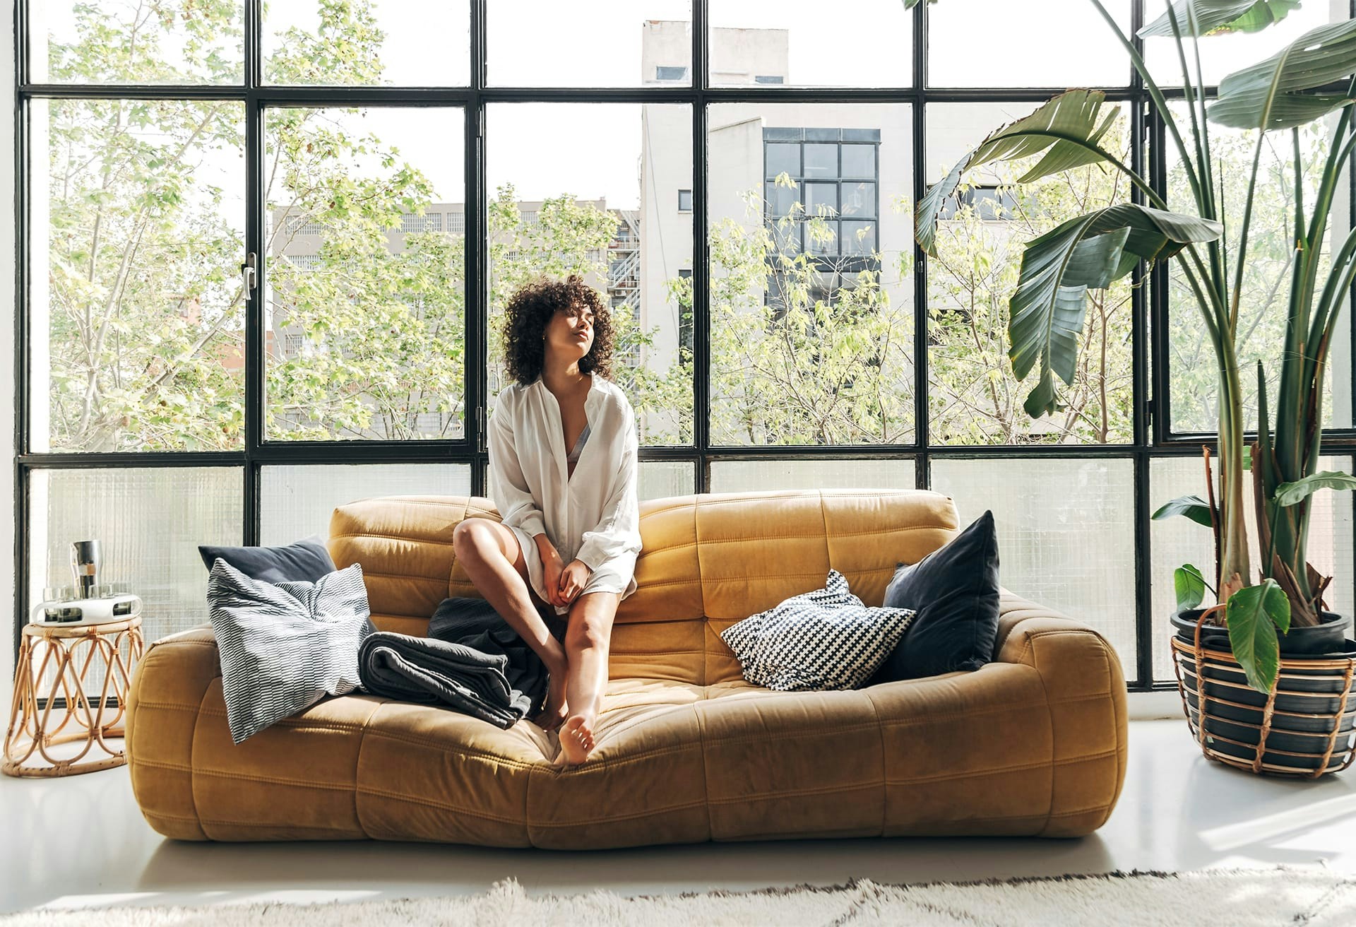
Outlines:
[[165, 836], [207, 839], [194, 810], [193, 740], [202, 700], [220, 677], [210, 624], [153, 642], [132, 672], [123, 741], [132, 790]]

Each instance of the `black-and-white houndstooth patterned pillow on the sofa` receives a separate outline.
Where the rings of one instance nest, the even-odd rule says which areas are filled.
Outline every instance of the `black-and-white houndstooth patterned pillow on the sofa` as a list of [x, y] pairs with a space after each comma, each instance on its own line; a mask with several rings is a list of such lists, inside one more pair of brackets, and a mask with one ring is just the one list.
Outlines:
[[911, 608], [873, 608], [829, 570], [823, 589], [786, 599], [720, 632], [744, 679], [777, 691], [861, 685], [909, 630]]

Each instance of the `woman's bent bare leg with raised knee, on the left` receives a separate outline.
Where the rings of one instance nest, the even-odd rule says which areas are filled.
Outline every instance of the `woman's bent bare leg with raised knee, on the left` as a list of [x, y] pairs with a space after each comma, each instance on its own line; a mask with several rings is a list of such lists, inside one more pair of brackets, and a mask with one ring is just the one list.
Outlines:
[[546, 665], [546, 704], [532, 721], [544, 730], [559, 727], [565, 719], [570, 660], [537, 611], [540, 600], [527, 582], [527, 562], [518, 536], [498, 521], [473, 517], [457, 524], [452, 544], [472, 585]]

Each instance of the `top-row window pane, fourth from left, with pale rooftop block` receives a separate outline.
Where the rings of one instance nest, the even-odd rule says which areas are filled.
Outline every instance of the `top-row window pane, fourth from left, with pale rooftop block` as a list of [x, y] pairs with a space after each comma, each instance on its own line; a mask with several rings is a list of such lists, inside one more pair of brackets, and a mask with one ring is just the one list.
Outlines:
[[914, 16], [898, 0], [843, 11], [815, 0], [711, 0], [709, 16], [712, 87], [913, 83]]

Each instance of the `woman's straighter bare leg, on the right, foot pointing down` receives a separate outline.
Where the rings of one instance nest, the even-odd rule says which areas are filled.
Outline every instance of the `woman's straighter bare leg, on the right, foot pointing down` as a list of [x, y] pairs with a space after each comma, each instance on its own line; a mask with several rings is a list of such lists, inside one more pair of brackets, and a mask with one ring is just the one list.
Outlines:
[[583, 763], [597, 745], [594, 725], [607, 685], [607, 653], [618, 603], [620, 593], [590, 592], [570, 605], [570, 627], [565, 630], [570, 718], [560, 729], [557, 763]]

